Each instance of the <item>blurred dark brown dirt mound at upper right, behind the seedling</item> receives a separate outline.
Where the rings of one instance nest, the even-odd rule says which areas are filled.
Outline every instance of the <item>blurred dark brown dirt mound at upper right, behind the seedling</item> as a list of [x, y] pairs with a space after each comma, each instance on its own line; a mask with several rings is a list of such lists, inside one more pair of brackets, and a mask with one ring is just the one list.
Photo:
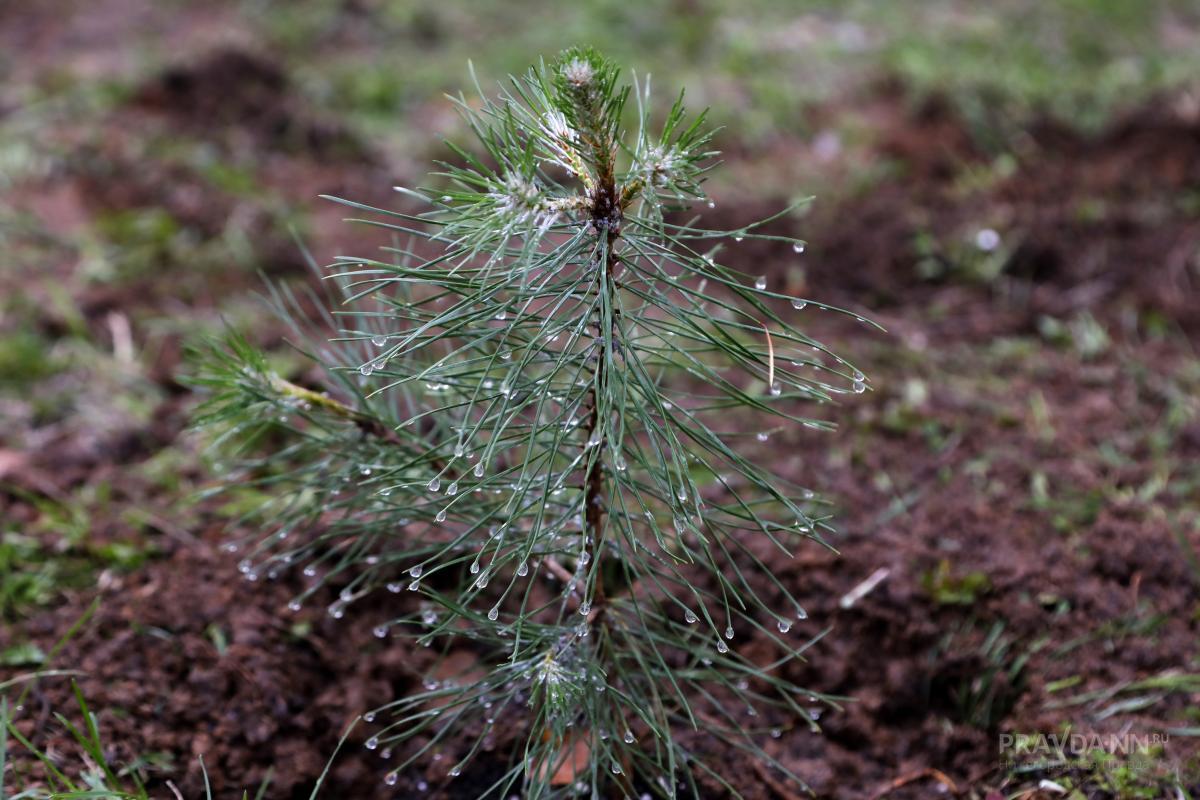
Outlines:
[[1189, 300], [1200, 290], [1200, 119], [1190, 106], [1164, 98], [1097, 137], [1038, 125], [1000, 157], [973, 148], [944, 103], [913, 113], [889, 96], [877, 106], [875, 150], [894, 176], [836, 207], [818, 203], [803, 229], [775, 229], [812, 241], [812, 296], [866, 308], [1001, 301], [982, 327], [950, 314], [955, 336], [1129, 308], [1200, 327]]

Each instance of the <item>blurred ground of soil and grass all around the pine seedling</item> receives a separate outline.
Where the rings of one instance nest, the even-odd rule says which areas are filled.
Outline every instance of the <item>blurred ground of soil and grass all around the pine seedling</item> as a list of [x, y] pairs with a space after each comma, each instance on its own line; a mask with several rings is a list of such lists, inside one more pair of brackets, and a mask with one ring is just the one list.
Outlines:
[[[712, 107], [714, 225], [816, 197], [776, 223], [805, 253], [731, 264], [889, 331], [811, 314], [872, 391], [768, 451], [842, 527], [841, 558], [781, 567], [834, 626], [790, 678], [858, 698], [778, 757], [827, 796], [1195, 790], [1194, 0], [0, 0], [0, 692], [79, 670], [151, 787], [194, 796], [204, 756], [220, 792], [274, 766], [268, 796], [307, 796], [403, 691], [370, 609], [289, 615], [287, 579], [217, 549], [257, 498], [203, 494], [182, 353], [229, 324], [302, 377], [260, 273], [308, 279], [293, 231], [318, 260], [379, 243], [317, 196], [392, 205], [464, 138], [444, 92], [474, 92], [468, 64], [490, 92], [577, 43]], [[18, 727], [73, 763], [68, 685], [32, 686]], [[1063, 729], [1172, 739], [996, 757]], [[395, 796], [350, 744], [331, 796]], [[406, 786], [474, 796], [438, 775]]]

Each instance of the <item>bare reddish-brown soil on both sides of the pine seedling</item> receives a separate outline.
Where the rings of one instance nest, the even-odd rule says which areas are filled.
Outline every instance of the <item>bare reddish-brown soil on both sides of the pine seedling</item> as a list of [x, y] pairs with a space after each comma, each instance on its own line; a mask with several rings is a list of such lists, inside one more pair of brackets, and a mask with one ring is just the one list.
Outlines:
[[[222, 148], [260, 151], [271, 162], [262, 175], [280, 191], [379, 199], [388, 184], [377, 178], [379, 157], [320, 122], [289, 86], [282, 67], [260, 55], [221, 50], [185, 61], [106, 121], [97, 146], [112, 148], [101, 161], [120, 181], [97, 179], [86, 167], [95, 160], [72, 162], [54, 181], [59, 191], [74, 187], [73, 213], [156, 204], [200, 230], [220, 229], [235, 212], [227, 199], [188, 184], [187, 175], [139, 172], [122, 161], [121, 132], [155, 121]], [[764, 450], [781, 474], [833, 499], [841, 531], [833, 542], [838, 553], [814, 546], [793, 560], [772, 557], [780, 579], [808, 602], [810, 618], [792, 636], [830, 628], [811, 661], [785, 674], [852, 698], [821, 716], [821, 735], [802, 720], [773, 720], [784, 733], [768, 748], [818, 796], [991, 798], [1013, 780], [1000, 763], [1000, 732], [1054, 732], [1069, 723], [1140, 734], [1195, 724], [1194, 717], [1188, 722], [1195, 693], [1163, 693], [1141, 710], [1111, 715], [1103, 708], [1126, 694], [1108, 703], [1055, 702], [1189, 663], [1194, 669], [1198, 657], [1200, 575], [1181, 555], [1177, 535], [1190, 536], [1193, 548], [1200, 537], [1148, 513], [1138, 492], [1154, 480], [1154, 463], [1200, 457], [1194, 419], [1163, 441], [1147, 434], [1170, 414], [1164, 377], [1195, 357], [1200, 120], [1164, 98], [1094, 138], [1036, 126], [1010, 170], [964, 187], [965, 174], [986, 173], [992, 160], [947, 107], [913, 110], [894, 89], [858, 102], [880, 120], [872, 156], [905, 169], [790, 223], [788, 233], [812, 242], [803, 275], [791, 254], [749, 242], [738, 252], [746, 264], [773, 264], [773, 281], [869, 313], [889, 330], [868, 333], [850, 318], [806, 312], [806, 330], [853, 354], [874, 391], [829, 410], [839, 433], [788, 432]], [[727, 217], [719, 223], [740, 225], [757, 216], [751, 211], [760, 209], [722, 209]], [[982, 225], [1004, 231], [991, 281], [958, 272], [958, 251], [918, 246], [931, 234], [941, 242], [964, 240], [971, 251]], [[319, 222], [316, 234], [331, 230]], [[319, 243], [331, 249], [340, 242], [330, 234]], [[361, 239], [355, 246], [366, 248]], [[269, 240], [258, 249], [269, 271], [300, 273], [289, 243]], [[252, 285], [228, 273], [192, 302], [220, 307]], [[172, 287], [150, 276], [104, 291], [82, 299], [97, 331], [113, 309], [160, 308]], [[1084, 312], [1112, 339], [1088, 359], [1054, 347], [1022, 359], [1000, 347], [1044, 335], [1046, 318]], [[1147, 319], [1172, 335], [1147, 332]], [[53, 318], [44, 325], [56, 330]], [[6, 518], [37, 518], [30, 492], [62, 497], [104, 480], [119, 504], [157, 519], [144, 534], [154, 559], [131, 572], [106, 572], [95, 590], [19, 620], [8, 636], [49, 650], [98, 596], [97, 610], [54, 666], [82, 673], [77, 680], [115, 760], [168, 754], [169, 766], [152, 778], [154, 796], [169, 796], [168, 778], [184, 796], [203, 796], [203, 757], [217, 798], [253, 792], [268, 772], [268, 796], [306, 798], [350, 721], [408, 691], [430, 660], [372, 636], [386, 599], [356, 606], [344, 620], [322, 613], [322, 603], [288, 612], [289, 578], [247, 583], [236, 557], [218, 549], [227, 519], [217, 505], [199, 503], [180, 515], [161, 489], [137, 477], [131, 468], [163, 449], [193, 446], [185, 433], [192, 399], [174, 378], [180, 368], [175, 342], [150, 373], [162, 395], [149, 425], [91, 438], [66, 429], [37, 452], [5, 462]], [[1097, 456], [1106, 447], [1127, 457]], [[198, 467], [187, 469], [181, 479], [206, 479]], [[1030, 486], [1039, 480], [1057, 503], [1036, 500]], [[1114, 489], [1121, 492], [1114, 497]], [[1186, 503], [1169, 497], [1162, 507]], [[126, 528], [119, 515], [97, 515], [92, 535], [120, 541]], [[848, 608], [840, 604], [878, 570], [887, 577], [872, 591]], [[997, 625], [1007, 650], [985, 646]], [[766, 639], [739, 644], [764, 661], [774, 657]], [[1024, 669], [1006, 672], [1018, 654], [1027, 657]], [[1001, 674], [985, 681], [996, 668]], [[1064, 680], [1078, 682], [1069, 691], [1055, 686]], [[50, 712], [71, 703], [65, 680], [42, 680], [18, 727], [70, 753]], [[349, 734], [324, 796], [474, 798], [506, 760], [502, 750], [484, 753], [456, 780], [433, 763], [386, 787], [386, 760], [362, 747], [368, 730], [359, 724]], [[703, 738], [697, 752], [750, 800], [796, 796]], [[1193, 762], [1193, 790], [1200, 790], [1196, 757], [1194, 740], [1184, 738], [1172, 739], [1165, 754], [1181, 766]], [[428, 790], [419, 793], [419, 782]], [[706, 790], [706, 799], [724, 796], [715, 787]]]

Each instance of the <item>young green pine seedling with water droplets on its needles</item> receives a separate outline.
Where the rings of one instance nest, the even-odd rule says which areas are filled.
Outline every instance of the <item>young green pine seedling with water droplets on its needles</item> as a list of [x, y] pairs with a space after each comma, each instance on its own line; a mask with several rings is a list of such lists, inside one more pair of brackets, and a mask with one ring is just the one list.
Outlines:
[[270, 290], [322, 389], [235, 335], [202, 362], [199, 422], [265, 498], [246, 576], [294, 570], [293, 607], [347, 621], [395, 593], [371, 625], [424, 690], [373, 711], [380, 780], [486, 760], [486, 796], [740, 796], [732, 747], [803, 786], [762, 746], [828, 698], [781, 672], [811, 638], [763, 559], [827, 523], [758, 462], [865, 377], [793, 326], [820, 303], [726, 264], [802, 242], [695, 227], [716, 154], [682, 100], [652, 114], [589, 49], [460, 97], [476, 143], [409, 210], [338, 200], [394, 235], [322, 271], [338, 301]]

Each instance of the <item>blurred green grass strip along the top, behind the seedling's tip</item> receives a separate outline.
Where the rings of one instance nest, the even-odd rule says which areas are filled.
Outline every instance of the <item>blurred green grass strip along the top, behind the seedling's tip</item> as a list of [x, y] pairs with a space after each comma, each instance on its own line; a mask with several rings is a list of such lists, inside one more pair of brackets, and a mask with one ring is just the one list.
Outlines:
[[[814, 104], [895, 74], [918, 97], [948, 96], [980, 142], [1003, 150], [1031, 115], [1094, 130], [1200, 66], [1200, 20], [1184, 0], [388, 0], [371, 6], [366, 35], [332, 0], [242, 7], [325, 106], [397, 137], [397, 119], [461, 85], [468, 59], [479, 74], [505, 74], [576, 42], [696, 88], [692, 102], [737, 120], [749, 140], [804, 132]], [[355, 46], [342, 46], [343, 30]]]

